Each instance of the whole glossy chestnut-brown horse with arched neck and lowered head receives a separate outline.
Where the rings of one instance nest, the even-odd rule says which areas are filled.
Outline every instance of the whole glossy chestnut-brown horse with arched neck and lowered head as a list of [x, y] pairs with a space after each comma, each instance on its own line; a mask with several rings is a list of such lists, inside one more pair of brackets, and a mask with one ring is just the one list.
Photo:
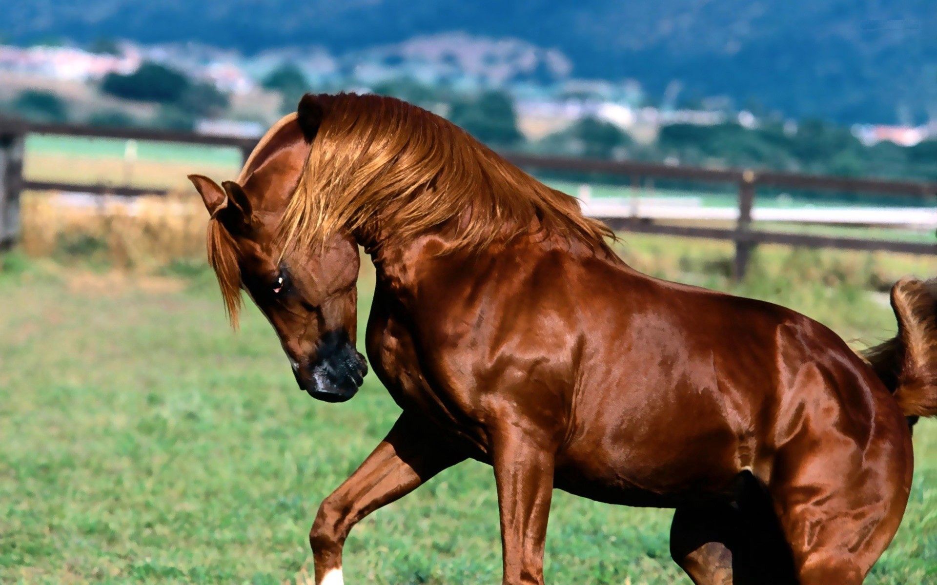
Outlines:
[[356, 522], [467, 458], [494, 468], [505, 583], [543, 582], [554, 488], [676, 508], [674, 560], [707, 585], [859, 583], [898, 529], [906, 417], [937, 414], [934, 283], [896, 285], [899, 335], [860, 357], [633, 271], [573, 197], [376, 95], [306, 95], [237, 182], [191, 180], [232, 321], [244, 288], [316, 398], [362, 382], [358, 245], [377, 269], [365, 346], [403, 412], [320, 506], [320, 584]]

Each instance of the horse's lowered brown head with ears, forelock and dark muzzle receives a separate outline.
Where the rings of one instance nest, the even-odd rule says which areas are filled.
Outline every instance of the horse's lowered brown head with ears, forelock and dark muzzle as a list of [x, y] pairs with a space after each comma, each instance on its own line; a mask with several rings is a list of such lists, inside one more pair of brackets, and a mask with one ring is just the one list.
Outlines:
[[367, 371], [354, 345], [357, 244], [344, 234], [314, 247], [284, 246], [280, 237], [320, 115], [301, 109], [276, 124], [236, 182], [189, 179], [212, 217], [209, 260], [232, 322], [244, 289], [274, 326], [300, 388], [326, 402], [344, 402]]

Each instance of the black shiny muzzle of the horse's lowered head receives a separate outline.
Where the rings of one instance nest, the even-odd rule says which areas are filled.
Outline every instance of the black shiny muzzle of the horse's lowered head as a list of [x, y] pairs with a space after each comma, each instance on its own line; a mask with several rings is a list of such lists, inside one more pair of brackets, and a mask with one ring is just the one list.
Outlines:
[[315, 358], [307, 367], [294, 368], [296, 382], [309, 396], [324, 402], [349, 400], [364, 382], [367, 362], [351, 344], [345, 331], [329, 331], [322, 336]]

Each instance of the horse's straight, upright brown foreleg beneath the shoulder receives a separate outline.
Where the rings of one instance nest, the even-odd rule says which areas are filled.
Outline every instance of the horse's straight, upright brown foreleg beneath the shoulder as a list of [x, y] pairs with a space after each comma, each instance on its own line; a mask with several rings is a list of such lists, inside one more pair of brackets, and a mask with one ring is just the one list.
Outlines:
[[511, 427], [492, 439], [504, 583], [543, 583], [543, 544], [553, 495], [555, 450]]

